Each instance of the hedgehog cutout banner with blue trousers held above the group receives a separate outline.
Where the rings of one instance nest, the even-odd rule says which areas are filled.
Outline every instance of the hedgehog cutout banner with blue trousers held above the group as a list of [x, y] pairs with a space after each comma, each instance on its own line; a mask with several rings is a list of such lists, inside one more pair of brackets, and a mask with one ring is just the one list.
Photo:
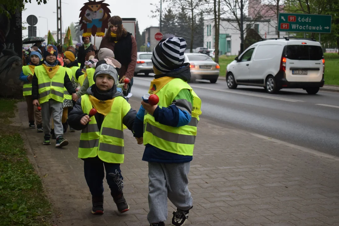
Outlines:
[[97, 35], [98, 37], [105, 36], [105, 29], [108, 28], [108, 19], [111, 18], [109, 14], [111, 10], [108, 4], [104, 1], [88, 1], [80, 9], [80, 30], [83, 30], [83, 37], [90, 37]]

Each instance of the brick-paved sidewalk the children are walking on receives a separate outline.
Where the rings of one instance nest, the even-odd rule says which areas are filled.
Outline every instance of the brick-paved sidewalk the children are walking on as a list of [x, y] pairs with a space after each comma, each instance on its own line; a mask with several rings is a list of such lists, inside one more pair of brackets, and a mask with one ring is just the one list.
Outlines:
[[[135, 109], [139, 101], [130, 99]], [[43, 146], [43, 135], [28, 128], [26, 103], [19, 103], [22, 129], [29, 137], [57, 226], [148, 226], [147, 163], [125, 130], [124, 194], [131, 209], [118, 214], [104, 181], [105, 214], [91, 214], [91, 196], [77, 158], [80, 132], [67, 132], [63, 149]], [[302, 149], [302, 148], [301, 148]], [[339, 225], [339, 159], [298, 149], [267, 137], [213, 125], [201, 119], [189, 188], [194, 207], [188, 225]], [[169, 203], [168, 217], [174, 206]], [[167, 224], [170, 220], [167, 220]]]

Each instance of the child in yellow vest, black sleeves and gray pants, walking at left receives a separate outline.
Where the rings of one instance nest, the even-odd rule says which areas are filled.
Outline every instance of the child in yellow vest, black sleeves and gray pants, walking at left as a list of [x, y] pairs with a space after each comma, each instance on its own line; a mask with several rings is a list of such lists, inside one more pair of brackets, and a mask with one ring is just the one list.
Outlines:
[[68, 77], [66, 69], [60, 66], [57, 60], [58, 50], [54, 45], [47, 45], [44, 49], [44, 62], [35, 67], [32, 80], [33, 104], [41, 106], [42, 127], [44, 132], [44, 145], [51, 144], [50, 120], [53, 115], [54, 131], [56, 135], [56, 147], [68, 145], [63, 138], [63, 127], [61, 123], [62, 103], [64, 101], [64, 87], [67, 92], [76, 97], [72, 82]]

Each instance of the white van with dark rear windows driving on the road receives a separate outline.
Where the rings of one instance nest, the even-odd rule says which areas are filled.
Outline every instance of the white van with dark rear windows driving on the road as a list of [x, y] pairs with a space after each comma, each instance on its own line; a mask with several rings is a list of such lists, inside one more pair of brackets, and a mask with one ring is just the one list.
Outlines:
[[316, 94], [324, 85], [325, 60], [319, 42], [313, 39], [266, 39], [248, 47], [227, 65], [226, 82], [263, 86], [267, 93], [283, 88], [301, 88]]

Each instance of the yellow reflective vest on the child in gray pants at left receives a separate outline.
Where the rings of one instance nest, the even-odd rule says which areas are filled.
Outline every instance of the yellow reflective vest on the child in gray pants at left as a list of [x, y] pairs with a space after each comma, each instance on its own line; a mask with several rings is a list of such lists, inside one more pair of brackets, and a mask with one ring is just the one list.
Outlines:
[[64, 101], [64, 78], [66, 69], [61, 66], [55, 66], [53, 70], [57, 70], [57, 72], [50, 78], [44, 65], [35, 67], [35, 75], [38, 78], [40, 104], [47, 102], [49, 99], [54, 99], [61, 103]]

